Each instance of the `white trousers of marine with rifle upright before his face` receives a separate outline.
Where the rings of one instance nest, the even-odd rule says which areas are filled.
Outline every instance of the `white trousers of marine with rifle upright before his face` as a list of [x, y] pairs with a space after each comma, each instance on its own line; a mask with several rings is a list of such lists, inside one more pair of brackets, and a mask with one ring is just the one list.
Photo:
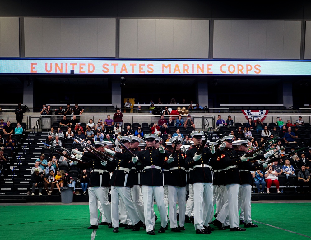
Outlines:
[[183, 227], [185, 224], [185, 212], [186, 212], [186, 187], [168, 186], [169, 189], [169, 225], [171, 228], [177, 228], [176, 219], [176, 198], [179, 208], [179, 226]]

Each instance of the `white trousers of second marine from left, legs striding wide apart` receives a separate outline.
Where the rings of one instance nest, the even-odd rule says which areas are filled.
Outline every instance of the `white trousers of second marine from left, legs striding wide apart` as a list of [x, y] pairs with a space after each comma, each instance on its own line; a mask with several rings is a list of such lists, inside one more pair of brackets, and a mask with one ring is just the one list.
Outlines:
[[130, 187], [115, 187], [111, 186], [111, 218], [112, 226], [114, 228], [119, 227], [119, 197], [122, 198], [126, 210], [131, 219], [132, 225], [139, 222], [139, 216], [131, 199], [131, 188]]

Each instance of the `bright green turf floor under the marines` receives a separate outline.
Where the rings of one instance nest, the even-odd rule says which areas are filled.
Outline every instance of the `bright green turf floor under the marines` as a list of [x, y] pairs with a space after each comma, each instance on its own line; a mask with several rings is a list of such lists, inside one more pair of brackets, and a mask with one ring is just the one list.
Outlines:
[[[147, 235], [146, 230], [132, 232], [123, 228], [119, 233], [112, 233], [107, 226], [99, 226], [95, 239], [310, 239], [310, 209], [311, 203], [254, 203], [253, 222], [263, 224], [258, 223], [258, 228], [249, 228], [246, 232], [215, 230], [210, 235], [198, 235], [193, 224], [188, 223], [185, 224], [186, 231], [180, 233], [173, 233], [170, 229], [157, 233], [160, 228], [159, 217], [155, 236]], [[90, 225], [88, 211], [88, 205], [0, 206], [0, 238], [91, 239], [92, 230], [86, 229]], [[155, 212], [160, 216], [156, 205]]]

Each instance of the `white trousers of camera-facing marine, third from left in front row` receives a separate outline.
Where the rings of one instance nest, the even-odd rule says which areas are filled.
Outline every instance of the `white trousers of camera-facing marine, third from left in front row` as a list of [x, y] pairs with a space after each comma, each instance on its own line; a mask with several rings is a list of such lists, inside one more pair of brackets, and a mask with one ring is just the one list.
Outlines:
[[[167, 225], [167, 215], [165, 211], [165, 203], [163, 199], [163, 186], [142, 186], [142, 196], [144, 200], [144, 207], [145, 207], [145, 224], [146, 224], [146, 231], [153, 230], [153, 197], [156, 200], [156, 205], [158, 206], [158, 210], [160, 212], [160, 219], [161, 219], [161, 226], [166, 227]], [[153, 218], [153, 219], [152, 219]]]

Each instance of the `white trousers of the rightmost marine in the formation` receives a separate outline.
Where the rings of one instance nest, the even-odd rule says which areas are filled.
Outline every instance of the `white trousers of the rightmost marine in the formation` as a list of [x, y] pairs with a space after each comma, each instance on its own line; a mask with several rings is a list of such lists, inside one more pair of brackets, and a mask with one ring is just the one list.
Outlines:
[[242, 184], [240, 185], [240, 193], [242, 198], [241, 204], [241, 212], [243, 210], [244, 215], [243, 219], [244, 223], [251, 223], [252, 222], [252, 186], [250, 184]]

